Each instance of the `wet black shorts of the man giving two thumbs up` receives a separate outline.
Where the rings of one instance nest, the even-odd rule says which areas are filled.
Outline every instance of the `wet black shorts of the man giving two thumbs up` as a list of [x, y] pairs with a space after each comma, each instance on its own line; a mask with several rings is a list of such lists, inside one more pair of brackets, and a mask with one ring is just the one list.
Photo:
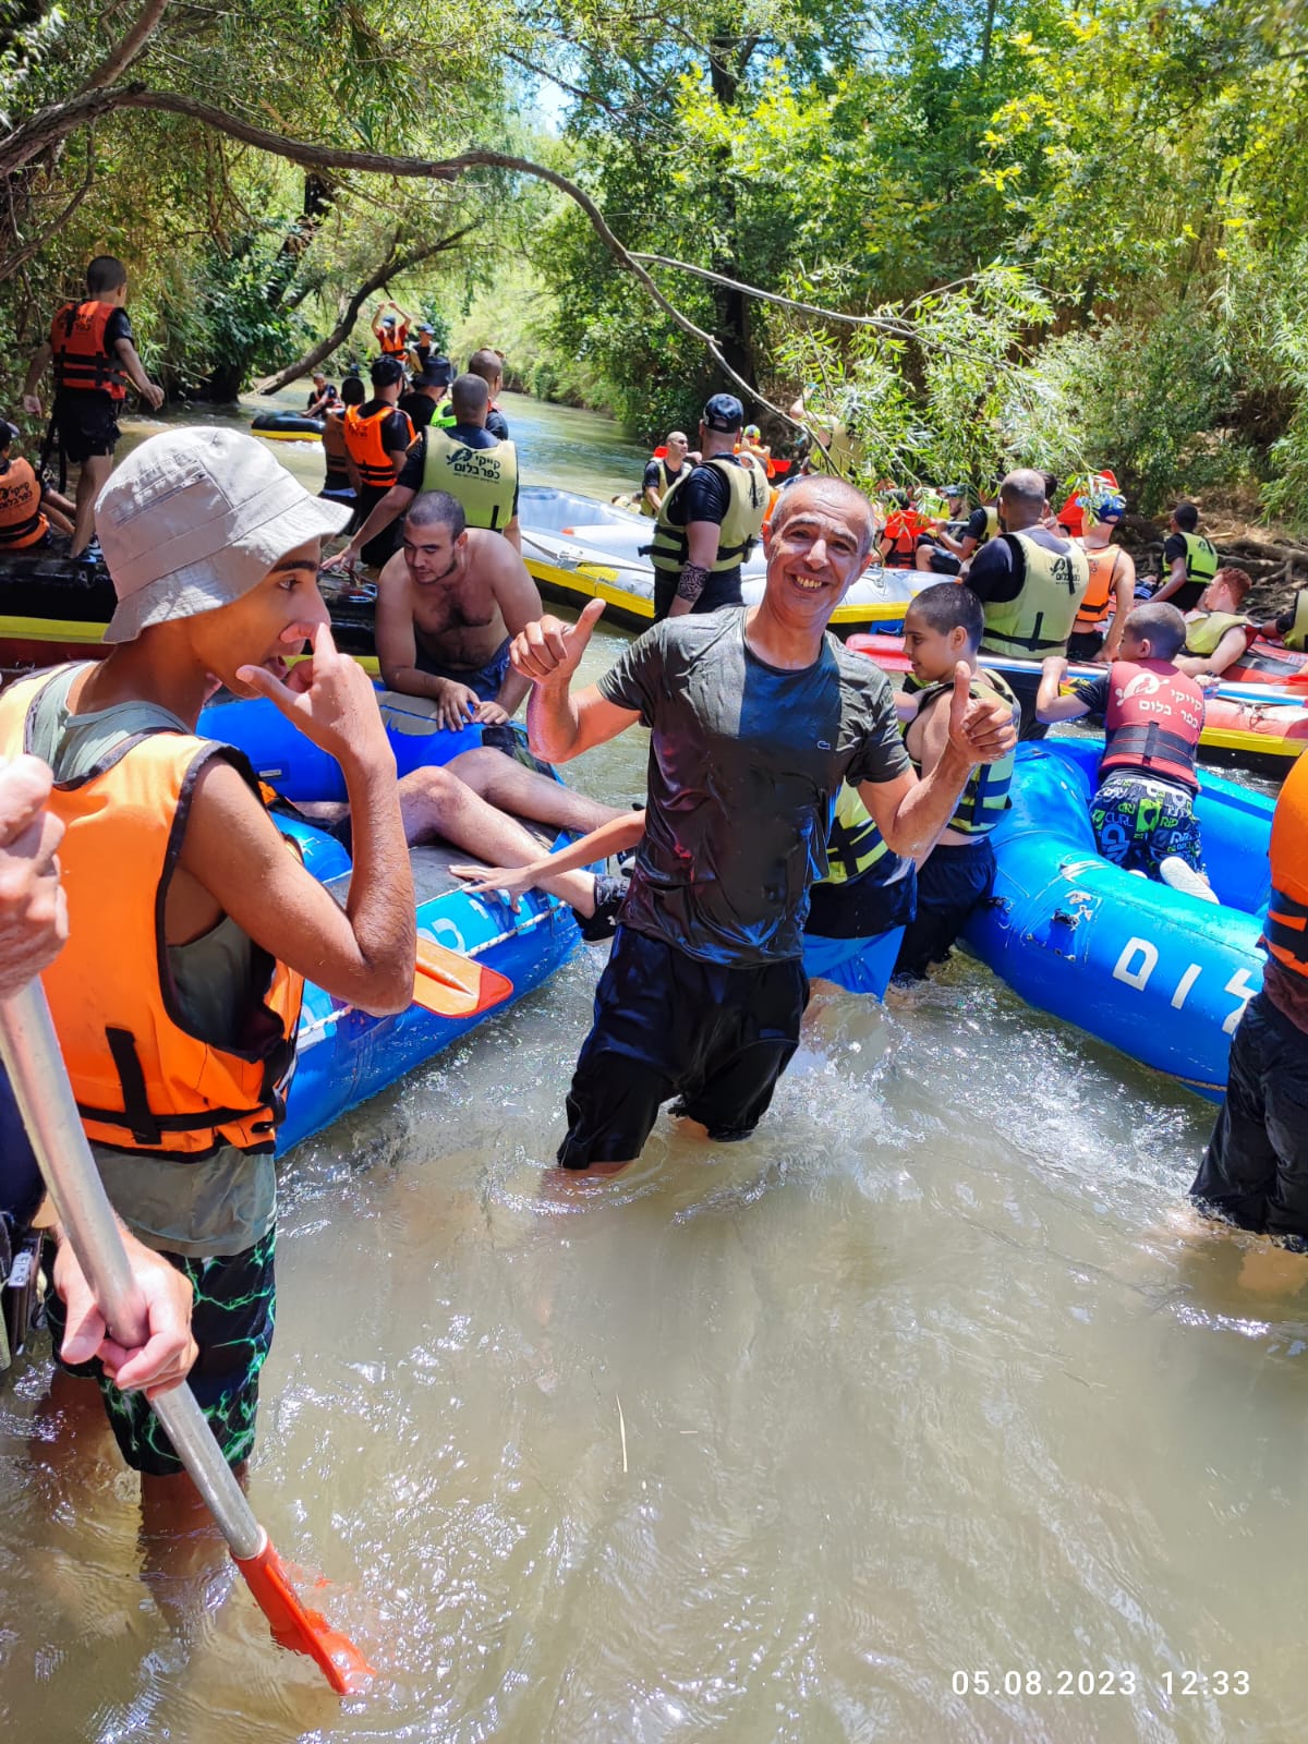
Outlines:
[[633, 1162], [673, 1097], [677, 1113], [703, 1121], [719, 1144], [748, 1139], [799, 1045], [807, 999], [799, 957], [722, 968], [619, 926], [558, 1162]]

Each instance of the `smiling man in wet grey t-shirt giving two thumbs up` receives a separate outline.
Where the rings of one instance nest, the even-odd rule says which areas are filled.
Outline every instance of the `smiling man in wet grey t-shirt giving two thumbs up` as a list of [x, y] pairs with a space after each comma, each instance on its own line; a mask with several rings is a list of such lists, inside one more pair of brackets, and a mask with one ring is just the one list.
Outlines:
[[514, 638], [537, 755], [652, 729], [645, 837], [567, 1099], [565, 1168], [621, 1168], [675, 1095], [712, 1139], [748, 1137], [799, 1039], [835, 788], [858, 787], [895, 853], [926, 853], [977, 762], [1015, 743], [1008, 706], [970, 699], [959, 664], [949, 745], [917, 780], [888, 680], [827, 635], [872, 532], [851, 485], [806, 480], [778, 504], [759, 605], [656, 624], [579, 696], [602, 602]]

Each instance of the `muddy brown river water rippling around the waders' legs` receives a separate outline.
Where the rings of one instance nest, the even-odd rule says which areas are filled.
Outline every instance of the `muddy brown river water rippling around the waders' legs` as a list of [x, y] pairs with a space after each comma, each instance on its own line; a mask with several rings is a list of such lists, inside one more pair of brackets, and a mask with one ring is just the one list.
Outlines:
[[[506, 412], [528, 478], [635, 483], [603, 420]], [[638, 736], [572, 776], [638, 797]], [[143, 1584], [42, 1348], [0, 1392], [7, 1735], [1308, 1737], [1308, 1301], [1182, 1240], [1210, 1107], [964, 961], [814, 1001], [748, 1144], [664, 1118], [549, 1196], [600, 968], [283, 1167], [251, 1498], [375, 1690], [330, 1697], [225, 1573]]]

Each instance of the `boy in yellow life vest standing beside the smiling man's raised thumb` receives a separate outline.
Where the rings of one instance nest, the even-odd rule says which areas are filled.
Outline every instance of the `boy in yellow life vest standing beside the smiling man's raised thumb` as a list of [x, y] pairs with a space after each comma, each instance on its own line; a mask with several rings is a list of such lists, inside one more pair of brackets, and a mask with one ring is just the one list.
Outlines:
[[[938, 581], [914, 596], [903, 619], [903, 652], [912, 661], [919, 689], [900, 698], [909, 719], [903, 743], [914, 769], [926, 778], [949, 741], [949, 699], [959, 661], [971, 671], [971, 694], [1008, 703], [1017, 722], [1020, 705], [998, 671], [977, 663], [984, 630], [980, 602], [970, 588]], [[935, 846], [917, 856], [917, 912], [895, 959], [895, 980], [921, 980], [933, 963], [944, 963], [971, 910], [994, 884], [991, 830], [1008, 807], [1013, 780], [1012, 752], [978, 764], [959, 795], [954, 814]]]

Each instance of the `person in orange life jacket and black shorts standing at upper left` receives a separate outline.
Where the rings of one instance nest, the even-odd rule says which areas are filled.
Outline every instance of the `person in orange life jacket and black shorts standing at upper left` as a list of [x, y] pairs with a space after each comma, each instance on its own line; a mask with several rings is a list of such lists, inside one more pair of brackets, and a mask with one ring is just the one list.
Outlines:
[[[127, 269], [113, 255], [96, 255], [85, 269], [87, 300], [65, 303], [51, 323], [51, 337], [40, 347], [23, 384], [23, 410], [33, 419], [44, 415], [37, 387], [54, 363], [54, 417], [65, 460], [80, 467], [77, 476], [77, 514], [68, 556], [92, 556], [96, 497], [113, 469], [119, 445], [119, 413], [131, 384], [157, 412], [164, 389], [152, 382], [136, 354], [133, 326], [127, 319]], [[44, 457], [42, 457], [44, 464]], [[63, 488], [63, 476], [59, 478]]]

